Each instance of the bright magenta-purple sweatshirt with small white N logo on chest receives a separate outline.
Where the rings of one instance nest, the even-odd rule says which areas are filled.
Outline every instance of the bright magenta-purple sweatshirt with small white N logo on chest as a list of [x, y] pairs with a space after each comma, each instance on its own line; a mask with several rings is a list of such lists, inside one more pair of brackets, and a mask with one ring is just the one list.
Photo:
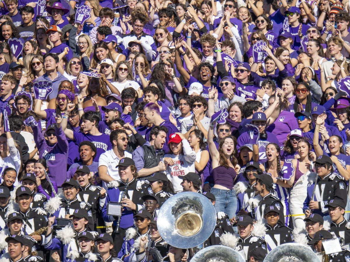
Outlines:
[[279, 141], [279, 146], [283, 147], [284, 141], [287, 140], [287, 135], [290, 131], [298, 128], [299, 126], [294, 114], [288, 111], [281, 111], [276, 121], [269, 125], [266, 130], [274, 134]]

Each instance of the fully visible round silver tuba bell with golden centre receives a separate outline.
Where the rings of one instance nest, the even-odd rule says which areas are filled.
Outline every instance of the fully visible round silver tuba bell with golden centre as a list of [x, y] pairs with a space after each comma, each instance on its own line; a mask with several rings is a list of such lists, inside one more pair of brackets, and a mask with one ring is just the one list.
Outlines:
[[214, 205], [202, 194], [181, 192], [170, 197], [157, 218], [159, 234], [177, 248], [193, 248], [207, 240], [216, 225]]

